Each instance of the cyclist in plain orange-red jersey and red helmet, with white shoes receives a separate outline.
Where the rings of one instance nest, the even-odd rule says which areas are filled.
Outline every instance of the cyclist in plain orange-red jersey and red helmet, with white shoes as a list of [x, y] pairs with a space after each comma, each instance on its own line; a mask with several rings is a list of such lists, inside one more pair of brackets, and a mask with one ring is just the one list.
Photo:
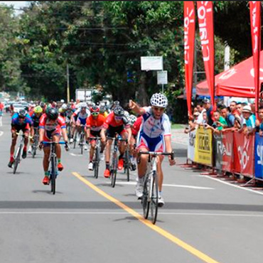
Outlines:
[[[89, 138], [91, 139], [90, 140], [90, 146], [91, 146], [90, 147], [90, 163], [87, 168], [90, 171], [92, 171], [93, 170], [92, 160], [93, 160], [95, 144], [96, 144], [96, 141], [94, 139], [92, 140], [92, 137], [94, 138], [94, 137], [100, 136], [102, 126], [105, 122], [105, 117], [102, 114], [100, 114], [100, 108], [97, 106], [90, 107], [90, 112], [91, 112], [91, 115], [90, 117], [87, 118], [87, 121], [86, 121], [86, 137], [87, 139]], [[100, 148], [100, 156], [102, 156], [104, 147], [105, 147], [105, 144], [102, 144]]]

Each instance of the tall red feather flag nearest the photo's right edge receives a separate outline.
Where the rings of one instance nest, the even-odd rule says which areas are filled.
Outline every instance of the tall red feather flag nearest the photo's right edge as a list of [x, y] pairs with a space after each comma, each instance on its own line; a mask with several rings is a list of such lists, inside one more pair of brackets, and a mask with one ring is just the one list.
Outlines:
[[261, 1], [249, 1], [250, 27], [252, 36], [252, 53], [254, 65], [254, 91], [255, 91], [255, 110], [258, 117], [259, 111], [259, 61], [261, 49]]

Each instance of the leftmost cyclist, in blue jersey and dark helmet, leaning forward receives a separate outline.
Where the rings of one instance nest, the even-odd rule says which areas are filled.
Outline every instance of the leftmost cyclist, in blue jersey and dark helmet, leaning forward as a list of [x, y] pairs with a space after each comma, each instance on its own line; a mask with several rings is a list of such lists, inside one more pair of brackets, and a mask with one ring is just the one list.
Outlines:
[[11, 119], [12, 144], [10, 148], [10, 161], [8, 164], [10, 168], [14, 163], [14, 151], [15, 151], [16, 139], [17, 139], [16, 133], [19, 132], [20, 130], [22, 130], [23, 135], [25, 135], [23, 154], [22, 154], [22, 158], [25, 159], [29, 132], [33, 134], [33, 122], [31, 117], [26, 113], [25, 109], [20, 109], [19, 112], [16, 112]]

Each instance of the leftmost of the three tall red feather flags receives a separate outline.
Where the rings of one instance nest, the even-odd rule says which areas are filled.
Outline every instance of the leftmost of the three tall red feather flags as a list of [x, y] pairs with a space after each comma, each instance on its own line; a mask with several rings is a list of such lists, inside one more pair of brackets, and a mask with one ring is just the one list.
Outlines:
[[188, 115], [191, 115], [193, 89], [193, 55], [195, 49], [195, 5], [193, 4], [193, 1], [183, 2], [183, 16], [186, 99]]

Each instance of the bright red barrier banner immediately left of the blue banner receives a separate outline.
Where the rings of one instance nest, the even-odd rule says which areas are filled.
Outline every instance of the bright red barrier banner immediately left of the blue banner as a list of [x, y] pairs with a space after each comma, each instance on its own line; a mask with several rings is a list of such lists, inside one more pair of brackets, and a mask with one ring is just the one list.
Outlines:
[[245, 176], [254, 175], [254, 134], [234, 133], [234, 171]]

